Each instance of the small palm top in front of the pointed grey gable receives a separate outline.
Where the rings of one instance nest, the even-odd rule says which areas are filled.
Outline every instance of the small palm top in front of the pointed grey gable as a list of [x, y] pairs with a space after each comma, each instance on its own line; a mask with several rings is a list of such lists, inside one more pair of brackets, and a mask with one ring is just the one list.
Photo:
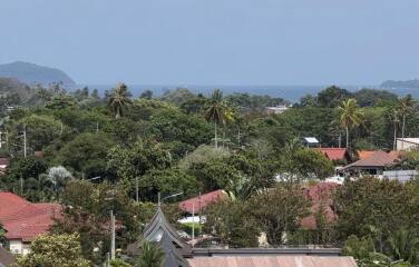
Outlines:
[[139, 267], [160, 267], [165, 259], [164, 250], [157, 243], [144, 240], [142, 244], [142, 254], [137, 259]]

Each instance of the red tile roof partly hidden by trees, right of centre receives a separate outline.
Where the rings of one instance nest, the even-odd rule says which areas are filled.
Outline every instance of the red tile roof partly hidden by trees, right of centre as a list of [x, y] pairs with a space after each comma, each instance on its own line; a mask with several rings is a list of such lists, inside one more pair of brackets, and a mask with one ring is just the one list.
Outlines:
[[328, 222], [333, 222], [338, 216], [333, 211], [333, 192], [339, 187], [335, 182], [319, 182], [305, 189], [304, 194], [312, 201], [311, 215], [301, 220], [303, 229], [318, 229], [314, 214], [323, 208], [324, 216]]

